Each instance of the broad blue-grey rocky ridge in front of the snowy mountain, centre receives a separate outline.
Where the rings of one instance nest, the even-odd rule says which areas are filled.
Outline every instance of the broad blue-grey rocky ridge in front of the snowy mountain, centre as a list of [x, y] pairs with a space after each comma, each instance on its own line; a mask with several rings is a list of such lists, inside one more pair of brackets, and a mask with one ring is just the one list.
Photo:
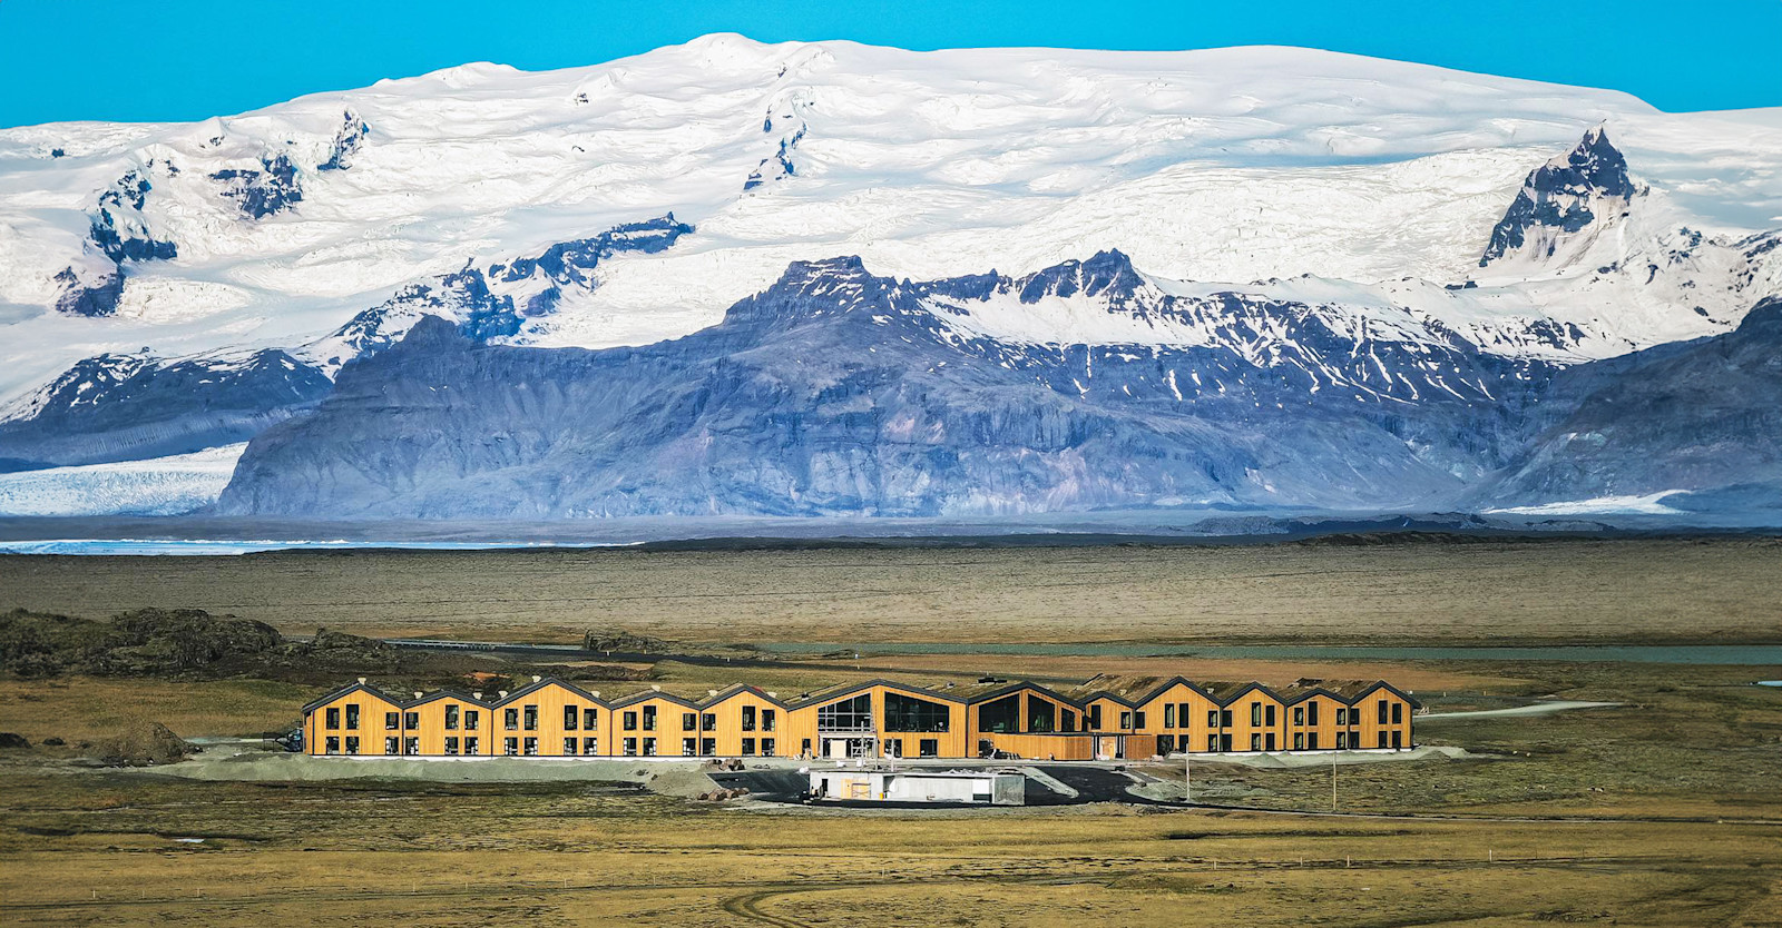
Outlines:
[[[1438, 337], [1376, 346], [1306, 306], [1233, 297], [1269, 328], [1301, 322], [1287, 342], [1315, 346], [1303, 367], [1258, 367], [1219, 340], [1018, 346], [950, 321], [971, 294], [1105, 290], [1126, 280], [1123, 264], [912, 285], [857, 258], [798, 262], [723, 324], [636, 349], [478, 346], [424, 319], [346, 369], [315, 415], [249, 445], [221, 508], [531, 518], [1344, 506], [1454, 493], [1520, 449], [1525, 390], [1508, 387], [1543, 370]], [[953, 303], [937, 313], [927, 301], [941, 296]], [[1356, 392], [1381, 358], [1467, 392], [1377, 372], [1379, 390], [1420, 401]], [[1486, 399], [1499, 390], [1509, 399]]]

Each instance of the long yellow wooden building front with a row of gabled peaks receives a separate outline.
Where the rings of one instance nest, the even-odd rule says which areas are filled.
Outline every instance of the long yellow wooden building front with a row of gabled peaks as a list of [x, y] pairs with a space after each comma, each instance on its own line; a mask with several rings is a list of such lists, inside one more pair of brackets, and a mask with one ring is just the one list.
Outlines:
[[312, 755], [356, 757], [1023, 757], [1401, 750], [1420, 704], [1379, 682], [1196, 684], [1096, 677], [923, 688], [871, 680], [781, 698], [752, 686], [602, 696], [535, 679], [511, 693], [415, 693], [365, 680], [303, 707]]

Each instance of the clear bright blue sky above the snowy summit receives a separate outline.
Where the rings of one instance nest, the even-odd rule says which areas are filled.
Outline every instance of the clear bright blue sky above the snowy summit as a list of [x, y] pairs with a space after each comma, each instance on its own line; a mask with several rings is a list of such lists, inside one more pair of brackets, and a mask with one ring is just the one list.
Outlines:
[[1613, 87], [1666, 110], [1782, 105], [1782, 0], [0, 0], [0, 126], [201, 119], [467, 61], [595, 64], [706, 32], [923, 50], [1303, 45]]

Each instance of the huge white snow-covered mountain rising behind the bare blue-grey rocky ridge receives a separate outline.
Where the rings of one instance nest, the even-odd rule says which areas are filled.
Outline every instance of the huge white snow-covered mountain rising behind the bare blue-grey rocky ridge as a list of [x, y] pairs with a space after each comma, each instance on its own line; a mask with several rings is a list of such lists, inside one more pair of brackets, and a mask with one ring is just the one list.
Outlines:
[[[1782, 292], [1778, 169], [1782, 110], [1326, 52], [738, 36], [191, 125], [0, 130], [0, 461], [296, 427], [428, 315], [486, 346], [725, 346], [759, 306], [852, 319], [829, 297], [854, 289], [887, 290], [936, 351], [1083, 403], [1461, 403], [1520, 429], [1547, 424], [1556, 372], [1732, 333]], [[1445, 415], [1427, 427], [1461, 427]], [[1411, 483], [1475, 488], [1518, 429]], [[1244, 497], [1214, 484], [1157, 499]]]

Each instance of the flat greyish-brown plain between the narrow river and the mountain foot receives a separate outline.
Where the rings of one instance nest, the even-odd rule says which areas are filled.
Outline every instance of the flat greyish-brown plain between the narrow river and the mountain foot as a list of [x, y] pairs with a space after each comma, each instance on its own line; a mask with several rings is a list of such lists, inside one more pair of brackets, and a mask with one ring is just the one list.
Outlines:
[[0, 556], [7, 607], [376, 636], [1782, 643], [1782, 540]]

